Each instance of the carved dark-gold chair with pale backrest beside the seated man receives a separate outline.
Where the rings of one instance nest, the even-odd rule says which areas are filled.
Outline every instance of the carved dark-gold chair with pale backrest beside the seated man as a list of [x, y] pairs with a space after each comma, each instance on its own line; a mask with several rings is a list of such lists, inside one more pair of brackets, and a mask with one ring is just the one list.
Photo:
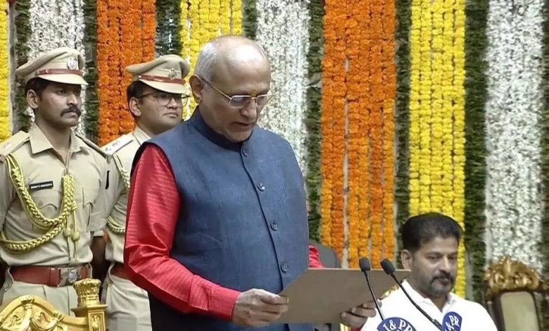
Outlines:
[[[500, 331], [540, 331], [549, 287], [536, 270], [504, 257], [484, 273], [486, 308]], [[546, 325], [549, 327], [549, 325]]]

